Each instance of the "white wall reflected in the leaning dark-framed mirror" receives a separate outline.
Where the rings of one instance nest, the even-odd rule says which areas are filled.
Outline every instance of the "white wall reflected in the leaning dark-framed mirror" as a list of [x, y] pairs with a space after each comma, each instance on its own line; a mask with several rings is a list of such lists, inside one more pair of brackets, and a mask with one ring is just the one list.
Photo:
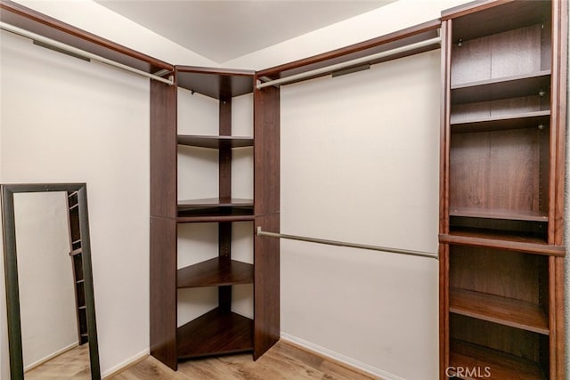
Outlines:
[[78, 344], [67, 194], [14, 195], [24, 369]]

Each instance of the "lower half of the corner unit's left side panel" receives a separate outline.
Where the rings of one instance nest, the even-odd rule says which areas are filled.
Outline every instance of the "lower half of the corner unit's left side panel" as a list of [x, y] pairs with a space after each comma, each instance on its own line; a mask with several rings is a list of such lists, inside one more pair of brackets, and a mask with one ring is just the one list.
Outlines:
[[176, 220], [151, 217], [151, 355], [176, 370]]

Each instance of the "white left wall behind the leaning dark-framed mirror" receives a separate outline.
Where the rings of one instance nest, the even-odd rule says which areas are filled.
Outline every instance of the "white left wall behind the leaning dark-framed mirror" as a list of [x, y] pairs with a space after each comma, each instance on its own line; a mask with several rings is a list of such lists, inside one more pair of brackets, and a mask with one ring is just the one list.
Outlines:
[[148, 80], [5, 32], [2, 74], [0, 180], [87, 183], [108, 371], [149, 347]]

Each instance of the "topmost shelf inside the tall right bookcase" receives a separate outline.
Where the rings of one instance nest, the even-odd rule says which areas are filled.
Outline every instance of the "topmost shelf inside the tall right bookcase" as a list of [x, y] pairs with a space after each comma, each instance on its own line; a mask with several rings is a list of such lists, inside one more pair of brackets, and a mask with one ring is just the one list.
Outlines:
[[550, 89], [550, 70], [452, 85], [452, 104], [538, 95]]

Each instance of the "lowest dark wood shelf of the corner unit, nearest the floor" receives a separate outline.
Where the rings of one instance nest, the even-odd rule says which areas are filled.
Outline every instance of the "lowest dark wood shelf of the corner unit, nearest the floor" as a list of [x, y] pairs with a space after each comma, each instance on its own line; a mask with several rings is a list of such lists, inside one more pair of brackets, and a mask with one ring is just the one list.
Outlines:
[[253, 350], [253, 320], [216, 308], [176, 330], [179, 359]]

